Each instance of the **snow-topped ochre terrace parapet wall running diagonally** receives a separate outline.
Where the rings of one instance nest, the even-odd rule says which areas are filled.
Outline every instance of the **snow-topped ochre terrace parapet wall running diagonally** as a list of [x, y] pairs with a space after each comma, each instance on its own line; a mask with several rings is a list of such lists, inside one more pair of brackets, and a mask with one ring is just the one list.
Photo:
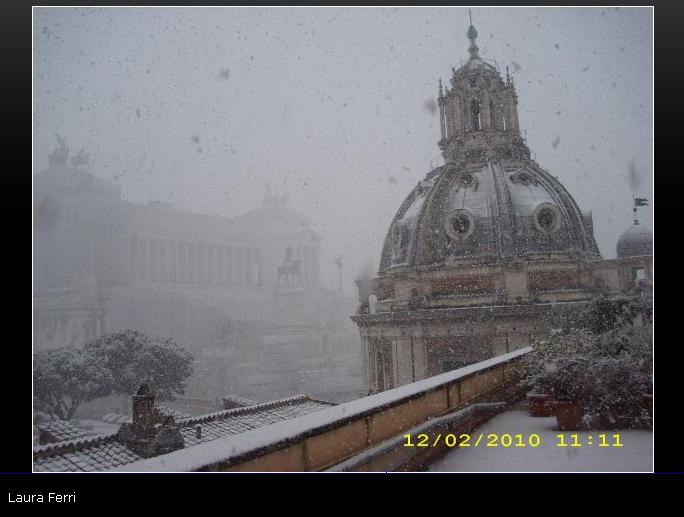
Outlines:
[[111, 472], [315, 471], [516, 384], [526, 347], [435, 377]]

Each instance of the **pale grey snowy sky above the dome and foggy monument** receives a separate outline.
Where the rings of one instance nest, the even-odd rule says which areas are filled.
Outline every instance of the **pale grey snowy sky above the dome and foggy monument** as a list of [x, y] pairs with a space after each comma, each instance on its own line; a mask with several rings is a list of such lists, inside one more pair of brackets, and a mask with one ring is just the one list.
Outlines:
[[[468, 56], [464, 8], [33, 13], [34, 172], [58, 133], [134, 202], [234, 216], [270, 183], [324, 236], [328, 286], [342, 255], [347, 291], [442, 163], [430, 101]], [[514, 75], [533, 157], [615, 257], [632, 192], [652, 200], [652, 10], [479, 7], [473, 23]]]

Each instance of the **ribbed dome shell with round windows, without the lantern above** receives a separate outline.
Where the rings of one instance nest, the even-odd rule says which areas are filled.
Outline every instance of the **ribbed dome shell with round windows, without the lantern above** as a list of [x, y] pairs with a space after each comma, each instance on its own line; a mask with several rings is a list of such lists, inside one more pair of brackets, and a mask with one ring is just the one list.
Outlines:
[[599, 259], [591, 215], [532, 160], [447, 163], [402, 203], [380, 271], [527, 260]]

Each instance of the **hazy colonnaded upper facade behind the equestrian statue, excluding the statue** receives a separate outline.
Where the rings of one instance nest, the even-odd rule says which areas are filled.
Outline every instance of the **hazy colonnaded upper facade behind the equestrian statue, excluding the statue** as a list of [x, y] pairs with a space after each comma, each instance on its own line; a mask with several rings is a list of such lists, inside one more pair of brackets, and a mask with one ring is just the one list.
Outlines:
[[127, 327], [199, 343], [195, 329], [219, 308], [272, 321], [287, 250], [299, 260], [298, 286], [313, 298], [322, 291], [320, 236], [284, 198], [269, 194], [234, 218], [138, 205], [55, 155], [34, 177], [36, 348]]

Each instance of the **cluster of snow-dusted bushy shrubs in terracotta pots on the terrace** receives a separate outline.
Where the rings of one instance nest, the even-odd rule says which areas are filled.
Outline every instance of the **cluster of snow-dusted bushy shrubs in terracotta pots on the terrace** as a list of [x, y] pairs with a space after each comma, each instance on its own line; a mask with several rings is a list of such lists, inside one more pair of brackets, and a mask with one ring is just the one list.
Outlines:
[[559, 429], [650, 427], [649, 310], [648, 301], [599, 300], [528, 354], [525, 382], [553, 395]]

